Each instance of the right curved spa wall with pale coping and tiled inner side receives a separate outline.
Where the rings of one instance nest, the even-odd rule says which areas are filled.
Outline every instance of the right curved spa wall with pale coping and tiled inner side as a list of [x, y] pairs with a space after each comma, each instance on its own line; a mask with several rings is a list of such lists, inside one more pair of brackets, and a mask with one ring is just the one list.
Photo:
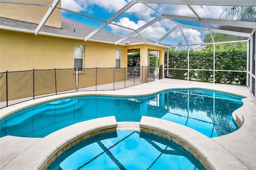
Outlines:
[[[175, 143], [179, 144], [194, 155], [194, 157], [197, 158], [206, 169], [229, 169], [232, 166], [235, 166], [235, 169], [241, 169], [241, 167], [242, 169], [248, 168], [241, 160], [239, 160], [239, 158], [229, 152], [225, 147], [221, 146], [221, 144], [215, 142], [212, 138], [208, 138], [204, 134], [178, 123], [155, 117], [142, 116], [140, 121], [140, 131], [173, 140]], [[196, 137], [191, 137], [191, 134], [196, 135]], [[210, 148], [205, 145], [206, 142], [211, 144]], [[209, 152], [208, 149], [217, 149], [218, 152], [226, 154], [229, 160], [237, 161], [237, 164], [234, 165], [232, 163], [230, 164], [225, 162], [226, 165], [223, 165], [223, 160], [218, 160], [218, 157], [216, 158], [216, 152]]]

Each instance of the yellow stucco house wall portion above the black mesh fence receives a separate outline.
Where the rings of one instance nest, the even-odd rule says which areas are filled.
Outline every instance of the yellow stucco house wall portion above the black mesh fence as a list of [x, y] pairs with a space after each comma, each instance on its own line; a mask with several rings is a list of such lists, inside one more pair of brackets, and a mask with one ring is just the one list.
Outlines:
[[127, 49], [121, 45], [84, 42], [22, 32], [0, 31], [0, 71], [74, 68], [74, 45], [84, 45], [84, 67], [115, 67], [121, 49], [121, 67], [127, 67]]

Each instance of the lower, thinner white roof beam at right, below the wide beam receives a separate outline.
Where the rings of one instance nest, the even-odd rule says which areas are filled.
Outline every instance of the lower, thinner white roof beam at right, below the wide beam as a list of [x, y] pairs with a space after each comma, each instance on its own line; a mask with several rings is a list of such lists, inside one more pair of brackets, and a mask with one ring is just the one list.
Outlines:
[[244, 33], [244, 32], [235, 32], [235, 31], [227, 31], [227, 30], [218, 30], [214, 28], [204, 28], [204, 27], [198, 27], [198, 26], [188, 26], [188, 25], [181, 25], [183, 28], [192, 28], [194, 30], [202, 30], [202, 31], [210, 31], [210, 32], [217, 32], [222, 34], [230, 34], [234, 36], [242, 36], [242, 37], [250, 37], [250, 33]]

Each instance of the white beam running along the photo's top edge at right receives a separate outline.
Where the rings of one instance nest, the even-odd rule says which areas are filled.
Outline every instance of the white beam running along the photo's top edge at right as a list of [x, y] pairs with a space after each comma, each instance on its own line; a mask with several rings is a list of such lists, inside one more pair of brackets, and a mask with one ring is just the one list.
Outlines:
[[255, 6], [255, 0], [140, 0], [139, 3], [209, 6]]

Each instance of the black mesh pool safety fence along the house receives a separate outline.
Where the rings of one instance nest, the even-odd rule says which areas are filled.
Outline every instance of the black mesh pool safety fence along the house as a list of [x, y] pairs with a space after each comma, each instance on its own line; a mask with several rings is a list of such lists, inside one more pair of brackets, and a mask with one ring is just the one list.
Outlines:
[[154, 80], [152, 66], [6, 71], [0, 73], [0, 109], [40, 97], [124, 89]]

